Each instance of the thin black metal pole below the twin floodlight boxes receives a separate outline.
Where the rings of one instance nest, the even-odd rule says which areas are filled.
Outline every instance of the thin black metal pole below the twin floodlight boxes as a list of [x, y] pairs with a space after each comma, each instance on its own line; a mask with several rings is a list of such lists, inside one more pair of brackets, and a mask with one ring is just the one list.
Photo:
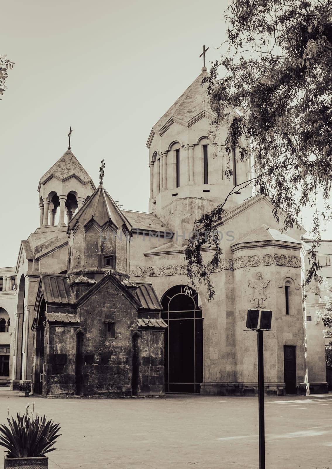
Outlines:
[[264, 356], [263, 330], [257, 331], [258, 355], [258, 425], [259, 425], [259, 469], [265, 469], [265, 422], [264, 422]]

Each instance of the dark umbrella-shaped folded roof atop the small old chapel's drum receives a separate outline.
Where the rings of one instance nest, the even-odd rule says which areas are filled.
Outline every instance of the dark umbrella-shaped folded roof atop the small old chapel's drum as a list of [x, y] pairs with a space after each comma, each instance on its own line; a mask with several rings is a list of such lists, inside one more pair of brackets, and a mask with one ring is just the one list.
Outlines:
[[81, 209], [75, 213], [74, 217], [70, 220], [68, 227], [73, 229], [77, 222], [80, 222], [82, 226], [85, 226], [91, 219], [96, 221], [100, 226], [103, 226], [106, 222], [111, 220], [117, 228], [125, 225], [128, 232], [130, 232], [132, 228], [128, 219], [125, 217], [123, 212], [121, 212], [118, 205], [104, 189], [102, 184], [97, 187], [95, 192], [83, 204]]

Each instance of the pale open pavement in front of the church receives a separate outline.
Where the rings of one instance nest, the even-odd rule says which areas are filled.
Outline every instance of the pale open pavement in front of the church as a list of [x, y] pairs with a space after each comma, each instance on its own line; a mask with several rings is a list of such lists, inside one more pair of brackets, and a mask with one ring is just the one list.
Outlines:
[[[61, 425], [49, 469], [258, 469], [258, 401], [42, 399], [0, 388], [0, 422], [35, 402]], [[332, 469], [332, 394], [266, 398], [266, 469]], [[3, 448], [4, 449], [4, 448]], [[0, 468], [3, 467], [0, 446]]]

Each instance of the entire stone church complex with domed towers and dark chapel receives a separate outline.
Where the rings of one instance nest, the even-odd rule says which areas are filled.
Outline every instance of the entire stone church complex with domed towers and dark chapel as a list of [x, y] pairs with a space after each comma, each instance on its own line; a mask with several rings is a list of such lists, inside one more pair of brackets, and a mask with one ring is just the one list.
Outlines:
[[255, 394], [256, 334], [245, 319], [248, 308], [266, 308], [266, 392], [327, 392], [321, 278], [304, 290], [304, 230], [282, 234], [269, 200], [239, 185], [217, 227], [214, 300], [188, 284], [194, 221], [252, 171], [235, 149], [233, 180], [223, 173], [226, 129], [211, 139], [206, 74], [148, 137], [148, 213], [121, 210], [70, 150], [40, 179], [40, 226], [15, 268], [12, 389], [28, 380], [43, 396]]

